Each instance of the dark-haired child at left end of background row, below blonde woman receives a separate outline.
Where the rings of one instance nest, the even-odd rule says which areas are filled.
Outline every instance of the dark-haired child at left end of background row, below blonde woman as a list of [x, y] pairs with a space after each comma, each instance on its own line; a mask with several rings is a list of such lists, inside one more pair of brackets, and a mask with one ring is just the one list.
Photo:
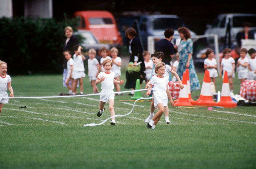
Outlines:
[[72, 84], [74, 82], [74, 79], [72, 78], [74, 60], [71, 58], [71, 52], [69, 50], [65, 50], [63, 52], [63, 55], [64, 55], [65, 59], [68, 61], [67, 62], [67, 72], [68, 73], [67, 73], [67, 78], [66, 78], [65, 84], [67, 85], [67, 87], [69, 89], [69, 94], [72, 94]]

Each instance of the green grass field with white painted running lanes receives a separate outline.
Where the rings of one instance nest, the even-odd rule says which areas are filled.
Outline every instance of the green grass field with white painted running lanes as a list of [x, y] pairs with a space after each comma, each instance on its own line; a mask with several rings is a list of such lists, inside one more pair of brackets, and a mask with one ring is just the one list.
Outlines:
[[[201, 84], [203, 75], [198, 73]], [[234, 83], [238, 94], [237, 78]], [[123, 86], [122, 91], [127, 91]], [[12, 76], [12, 87], [15, 97], [58, 96], [68, 91], [62, 87], [62, 75]], [[221, 91], [222, 79], [217, 78], [216, 88]], [[92, 93], [88, 77], [84, 93]], [[192, 92], [192, 98], [199, 94], [200, 90]], [[128, 116], [116, 118], [116, 126], [109, 120], [84, 127], [110, 117], [108, 104], [97, 117], [98, 99], [10, 99], [0, 116], [0, 169], [256, 168], [255, 107], [170, 108], [171, 124], [162, 117], [155, 130], [149, 130], [144, 120], [150, 102], [144, 100], [136, 102]], [[134, 102], [119, 100], [130, 100], [130, 96], [124, 93], [115, 98], [116, 114], [129, 113]]]

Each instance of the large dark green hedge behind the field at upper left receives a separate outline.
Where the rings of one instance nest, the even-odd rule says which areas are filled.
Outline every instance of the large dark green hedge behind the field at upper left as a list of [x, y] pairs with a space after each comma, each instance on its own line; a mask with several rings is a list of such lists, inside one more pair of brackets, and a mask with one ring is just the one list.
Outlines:
[[64, 28], [76, 27], [75, 19], [0, 18], [0, 60], [8, 73], [62, 73]]

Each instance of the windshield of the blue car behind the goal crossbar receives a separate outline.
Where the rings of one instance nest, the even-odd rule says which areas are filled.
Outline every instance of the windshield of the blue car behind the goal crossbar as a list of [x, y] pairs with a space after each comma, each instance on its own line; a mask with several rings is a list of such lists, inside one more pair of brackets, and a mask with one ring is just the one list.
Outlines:
[[150, 29], [178, 29], [179, 27], [182, 27], [182, 21], [178, 18], [153, 18], [150, 21]]

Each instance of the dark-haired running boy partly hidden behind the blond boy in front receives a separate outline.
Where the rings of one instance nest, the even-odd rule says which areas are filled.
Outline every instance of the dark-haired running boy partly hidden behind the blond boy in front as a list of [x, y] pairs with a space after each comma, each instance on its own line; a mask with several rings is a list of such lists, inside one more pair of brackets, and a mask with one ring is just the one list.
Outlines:
[[[152, 55], [151, 55], [151, 58], [152, 58], [152, 60], [153, 60], [153, 63], [154, 63], [154, 65], [156, 65], [156, 64], [158, 64], [159, 62], [161, 62], [162, 60], [164, 60], [164, 53], [162, 53], [162, 52], [156, 52], [156, 53], [153, 53]], [[184, 86], [183, 86], [183, 84], [182, 84], [182, 82], [181, 82], [181, 80], [180, 80], [180, 77], [178, 76], [178, 74], [174, 71], [174, 70], [172, 70], [172, 68], [171, 68], [171, 66], [169, 66], [169, 65], [165, 65], [165, 74], [164, 74], [164, 76], [169, 80], [169, 74], [170, 74], [170, 72], [177, 78], [177, 80], [178, 80], [178, 82], [180, 83], [180, 88], [181, 89], [183, 89], [184, 88]], [[153, 73], [152, 73], [152, 76], [154, 77], [154, 76], [156, 76], [156, 72], [155, 72], [155, 70], [153, 69]], [[149, 81], [147, 84], [146, 84], [146, 88], [148, 88], [149, 87], [149, 84], [150, 84], [151, 82]], [[154, 94], [153, 94], [154, 95]], [[151, 101], [151, 105], [150, 105], [150, 114], [149, 114], [149, 116], [148, 116], [148, 118], [146, 118], [146, 120], [144, 121], [145, 123], [148, 123], [152, 118], [153, 118], [153, 116], [155, 115], [155, 113], [154, 113], [154, 111], [155, 111], [155, 105], [154, 105], [154, 98], [152, 99], [152, 101]], [[169, 110], [168, 110], [168, 107], [167, 107], [167, 109], [166, 109], [166, 111], [165, 111], [165, 122], [167, 123], [167, 124], [170, 124], [171, 122], [170, 122], [170, 120], [169, 120]]]

